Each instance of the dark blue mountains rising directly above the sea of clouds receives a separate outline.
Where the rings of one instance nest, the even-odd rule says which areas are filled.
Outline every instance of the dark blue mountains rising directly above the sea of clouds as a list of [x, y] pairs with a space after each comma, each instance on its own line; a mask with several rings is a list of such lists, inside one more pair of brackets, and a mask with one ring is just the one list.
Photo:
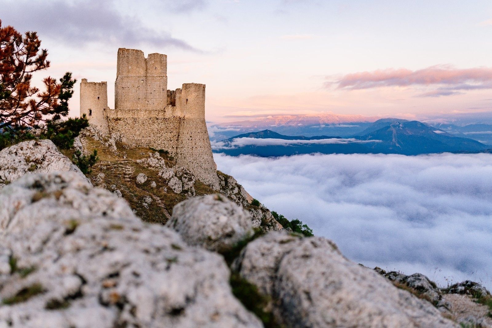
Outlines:
[[307, 153], [396, 153], [418, 155], [440, 152], [481, 152], [490, 147], [470, 138], [456, 137], [427, 123], [379, 119], [360, 134], [340, 136], [287, 136], [266, 129], [212, 142], [214, 152], [262, 157]]

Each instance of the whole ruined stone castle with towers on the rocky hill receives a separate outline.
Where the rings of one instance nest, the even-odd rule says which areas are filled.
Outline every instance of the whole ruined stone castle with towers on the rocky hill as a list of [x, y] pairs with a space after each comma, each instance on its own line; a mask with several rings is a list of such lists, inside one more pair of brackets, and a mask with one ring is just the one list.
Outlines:
[[118, 50], [115, 109], [106, 82], [80, 84], [80, 115], [104, 135], [133, 147], [164, 149], [198, 179], [219, 188], [205, 124], [205, 85], [167, 89], [167, 56]]

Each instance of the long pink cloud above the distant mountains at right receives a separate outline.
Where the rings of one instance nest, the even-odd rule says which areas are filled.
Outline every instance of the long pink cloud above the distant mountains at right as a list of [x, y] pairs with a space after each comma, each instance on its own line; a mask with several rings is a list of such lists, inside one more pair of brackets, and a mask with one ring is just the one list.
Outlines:
[[[336, 84], [338, 89], [370, 89], [378, 87], [441, 86], [428, 95], [457, 94], [457, 90], [492, 89], [492, 68], [458, 69], [449, 65], [435, 65], [412, 71], [406, 68], [378, 69], [372, 72], [346, 74]], [[332, 85], [328, 83], [328, 85]], [[423, 94], [426, 96], [426, 94]]]

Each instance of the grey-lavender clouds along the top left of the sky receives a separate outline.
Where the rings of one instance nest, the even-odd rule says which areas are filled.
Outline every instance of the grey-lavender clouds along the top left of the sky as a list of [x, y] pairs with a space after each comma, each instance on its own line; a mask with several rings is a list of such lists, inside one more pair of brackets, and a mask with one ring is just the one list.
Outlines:
[[[170, 10], [184, 12], [199, 7], [204, 1], [166, 2], [173, 3]], [[1, 15], [4, 23], [11, 22], [18, 30], [36, 30], [41, 37], [49, 36], [71, 45], [94, 42], [124, 46], [150, 44], [201, 52], [169, 32], [148, 28], [140, 19], [121, 14], [117, 8], [118, 3], [110, 0], [10, 0], [2, 3]], [[19, 13], [22, 13], [22, 20]]]

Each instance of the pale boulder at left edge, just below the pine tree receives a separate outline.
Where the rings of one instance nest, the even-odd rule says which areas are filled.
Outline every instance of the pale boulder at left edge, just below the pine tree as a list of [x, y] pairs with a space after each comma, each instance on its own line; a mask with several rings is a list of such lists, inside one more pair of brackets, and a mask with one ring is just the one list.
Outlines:
[[24, 141], [0, 151], [0, 188], [28, 173], [64, 171], [75, 172], [85, 179], [51, 140]]

